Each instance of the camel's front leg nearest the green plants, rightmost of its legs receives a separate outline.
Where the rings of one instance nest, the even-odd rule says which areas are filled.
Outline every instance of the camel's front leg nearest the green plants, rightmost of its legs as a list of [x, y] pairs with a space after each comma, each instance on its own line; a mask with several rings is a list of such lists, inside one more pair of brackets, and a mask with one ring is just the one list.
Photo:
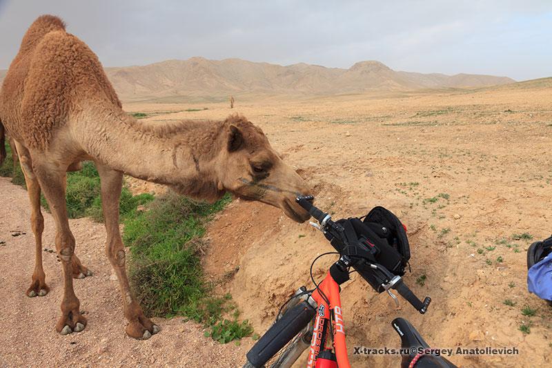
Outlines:
[[159, 332], [159, 327], [144, 316], [144, 312], [132, 296], [128, 285], [125, 249], [119, 232], [119, 198], [121, 197], [123, 174], [100, 163], [96, 163], [96, 167], [101, 180], [101, 204], [103, 217], [106, 220], [106, 254], [119, 279], [124, 313], [128, 320], [126, 333], [132, 338], [148, 339], [153, 333]]

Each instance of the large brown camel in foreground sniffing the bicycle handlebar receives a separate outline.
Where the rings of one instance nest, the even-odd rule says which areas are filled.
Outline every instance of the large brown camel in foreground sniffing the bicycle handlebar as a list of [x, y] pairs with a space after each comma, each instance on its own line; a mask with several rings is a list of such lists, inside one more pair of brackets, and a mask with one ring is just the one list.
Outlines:
[[295, 197], [309, 186], [270, 146], [260, 128], [243, 116], [219, 121], [139, 122], [124, 112], [97, 56], [61, 19], [43, 15], [21, 41], [0, 93], [0, 117], [14, 139], [31, 202], [36, 242], [28, 296], [48, 293], [41, 260], [44, 193], [56, 224], [55, 245], [63, 271], [61, 334], [86, 327], [73, 278], [90, 271], [75, 255], [68, 222], [66, 172], [92, 160], [101, 179], [106, 254], [123, 299], [126, 333], [137, 339], [159, 331], [130, 291], [119, 233], [123, 175], [166, 184], [182, 195], [213, 202], [227, 191], [246, 200], [277, 206], [297, 222], [309, 215]]

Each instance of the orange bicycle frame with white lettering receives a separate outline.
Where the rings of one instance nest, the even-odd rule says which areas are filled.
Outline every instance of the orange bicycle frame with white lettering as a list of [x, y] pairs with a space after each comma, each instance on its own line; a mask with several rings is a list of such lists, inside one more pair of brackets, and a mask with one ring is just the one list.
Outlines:
[[318, 289], [313, 292], [312, 297], [317, 303], [318, 308], [306, 367], [315, 368], [319, 352], [326, 348], [328, 333], [333, 333], [333, 348], [335, 350], [335, 357], [337, 358], [337, 366], [339, 368], [351, 368], [345, 343], [339, 284], [333, 280], [329, 271], [326, 278], [318, 285]]

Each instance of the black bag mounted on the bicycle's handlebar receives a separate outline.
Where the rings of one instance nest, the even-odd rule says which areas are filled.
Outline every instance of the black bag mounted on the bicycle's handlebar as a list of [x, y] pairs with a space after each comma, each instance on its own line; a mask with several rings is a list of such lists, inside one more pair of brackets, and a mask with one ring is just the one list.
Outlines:
[[[395, 214], [377, 206], [368, 215], [338, 220], [337, 224], [344, 227], [348, 244], [360, 244], [362, 256], [367, 258], [368, 262], [381, 264], [393, 275], [404, 275], [406, 264], [410, 260], [410, 246], [406, 230]], [[337, 238], [332, 240], [332, 245], [336, 249], [343, 249], [345, 246], [342, 240]], [[362, 264], [355, 265], [355, 269], [359, 267], [362, 267]], [[384, 291], [382, 284], [389, 280], [385, 280], [382, 273], [371, 269], [368, 264], [362, 269], [362, 274], [373, 289], [379, 293]]]

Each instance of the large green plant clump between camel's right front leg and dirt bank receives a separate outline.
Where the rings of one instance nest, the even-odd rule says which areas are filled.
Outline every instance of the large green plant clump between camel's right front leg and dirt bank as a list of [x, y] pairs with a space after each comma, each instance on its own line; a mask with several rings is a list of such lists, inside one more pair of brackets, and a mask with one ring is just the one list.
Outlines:
[[[201, 269], [206, 222], [229, 201], [229, 195], [205, 204], [168, 194], [151, 202], [148, 211], [124, 220], [130, 282], [144, 311], [150, 316], [181, 315], [204, 323], [219, 342], [253, 332], [247, 321], [237, 321], [230, 296], [210, 295]], [[224, 318], [230, 311], [236, 312], [233, 318]]]

